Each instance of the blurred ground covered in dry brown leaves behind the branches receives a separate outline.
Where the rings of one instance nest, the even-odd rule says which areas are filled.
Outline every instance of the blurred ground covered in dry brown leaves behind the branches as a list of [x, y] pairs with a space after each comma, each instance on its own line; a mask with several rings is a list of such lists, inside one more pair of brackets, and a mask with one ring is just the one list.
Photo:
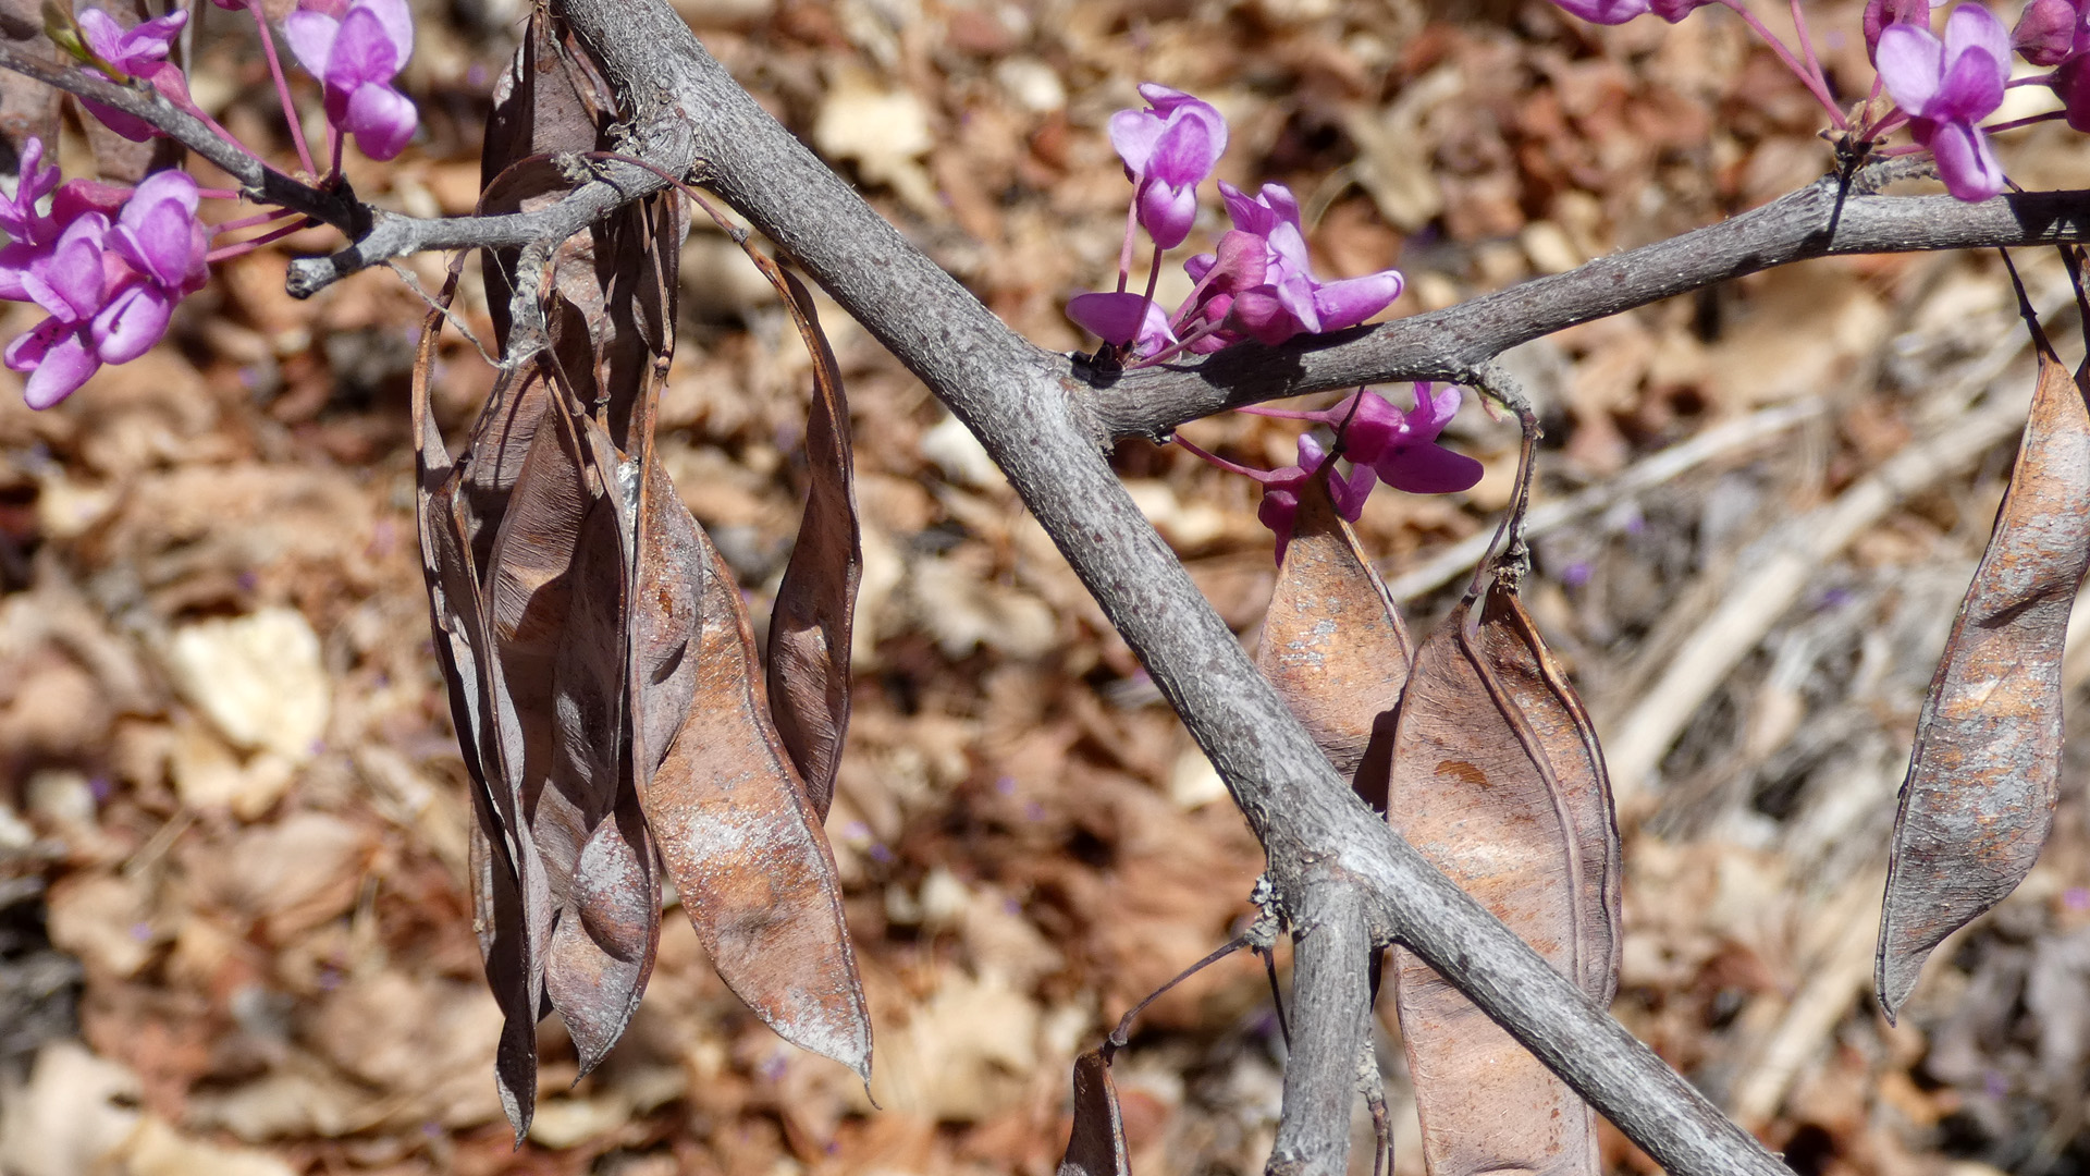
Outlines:
[[[1833, 165], [1818, 109], [1724, 13], [1593, 31], [1538, 0], [677, 6], [1060, 349], [1083, 345], [1064, 299], [1114, 270], [1127, 186], [1101, 126], [1141, 80], [1233, 119], [1221, 176], [1290, 182], [1323, 274], [1402, 266], [1392, 314]], [[1862, 94], [1858, 6], [1810, 8]], [[351, 176], [408, 211], [468, 211], [522, 6], [420, 15], [422, 142]], [[280, 146], [263, 65], [222, 17], [196, 96]], [[2090, 146], [2054, 123], [2002, 159], [2029, 188], [2090, 184]], [[77, 144], [67, 161], [92, 167]], [[1260, 854], [995, 467], [832, 308], [865, 575], [828, 831], [876, 1019], [869, 1096], [744, 1013], [671, 917], [600, 1071], [573, 1084], [543, 1027], [545, 1099], [512, 1147], [414, 555], [405, 368], [414, 280], [439, 282], [441, 259], [291, 301], [286, 259], [326, 247], [314, 230], [222, 266], [167, 343], [59, 410], [25, 410], [0, 372], [0, 1172], [1051, 1172], [1072, 1057], [1231, 935]], [[2027, 272], [2071, 354], [2059, 264]], [[1164, 297], [1183, 289], [1164, 278]], [[33, 322], [10, 306], [4, 335]], [[472, 287], [466, 306], [483, 329]], [[1868, 998], [1896, 787], [2031, 391], [2000, 266], [1795, 266], [1509, 362], [1549, 427], [1528, 601], [1622, 801], [1616, 1013], [1808, 1176], [2090, 1166], [2090, 745], [2069, 747], [2054, 841], [2019, 894], [1940, 952], [1900, 1027]], [[489, 385], [470, 343], [445, 343], [451, 431]], [[782, 308], [700, 228], [660, 452], [757, 624], [790, 550], [807, 393]], [[1273, 421], [1185, 435], [1294, 456]], [[1492, 527], [1515, 458], [1513, 427], [1471, 404], [1446, 437], [1488, 477], [1379, 490], [1358, 525], [1419, 632], [1461, 571], [1444, 552]], [[1273, 584], [1252, 485], [1147, 444], [1118, 465], [1252, 642]], [[2082, 703], [2090, 657], [2067, 680]], [[1419, 1174], [1390, 1027], [1381, 1044], [1398, 1170]], [[1260, 1170], [1281, 1065], [1254, 960], [1166, 996], [1116, 1065], [1135, 1172]], [[1649, 1170], [1607, 1140], [1616, 1168]]]

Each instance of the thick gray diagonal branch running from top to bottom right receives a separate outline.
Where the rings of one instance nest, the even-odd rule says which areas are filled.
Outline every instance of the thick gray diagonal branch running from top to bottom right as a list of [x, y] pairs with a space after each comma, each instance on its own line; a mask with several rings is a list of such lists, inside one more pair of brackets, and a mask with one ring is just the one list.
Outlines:
[[[740, 90], [667, 4], [560, 0], [556, 10], [631, 96], [635, 121], [688, 123], [706, 161], [702, 182], [980, 437], [1212, 757], [1269, 852], [1285, 908], [1317, 912], [1313, 935], [1409, 944], [1672, 1172], [1785, 1172], [1356, 799], [1118, 483], [1093, 389], [1062, 356], [1014, 335], [907, 245]], [[1340, 994], [1325, 1007], [1348, 1017]], [[1338, 1069], [1348, 1105], [1352, 1050], [1354, 1038], [1331, 1061], [1298, 1050], [1292, 1065]], [[1336, 1130], [1340, 1115], [1304, 1107], [1308, 1090], [1319, 1096], [1317, 1082], [1285, 1088], [1287, 1157], [1296, 1172], [1333, 1176], [1348, 1130]]]

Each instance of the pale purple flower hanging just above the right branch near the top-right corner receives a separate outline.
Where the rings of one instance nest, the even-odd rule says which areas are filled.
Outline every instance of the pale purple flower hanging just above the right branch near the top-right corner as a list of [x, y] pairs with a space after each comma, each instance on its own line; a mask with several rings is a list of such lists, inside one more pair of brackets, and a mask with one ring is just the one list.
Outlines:
[[1946, 190], [1985, 201], [2002, 190], [2002, 165], [1977, 126], [2002, 105], [2011, 80], [2011, 33], [1988, 8], [1960, 4], [1940, 42], [1927, 27], [1879, 31], [1879, 77], [1910, 115], [1908, 130], [1937, 157]]

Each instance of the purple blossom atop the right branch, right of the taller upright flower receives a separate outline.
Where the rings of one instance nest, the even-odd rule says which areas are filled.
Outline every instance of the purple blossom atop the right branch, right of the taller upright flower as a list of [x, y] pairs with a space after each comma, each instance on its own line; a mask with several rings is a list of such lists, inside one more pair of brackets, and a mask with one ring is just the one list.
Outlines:
[[1191, 345], [1193, 352], [1216, 352], [1244, 337], [1275, 345], [1300, 333], [1342, 331], [1400, 297], [1398, 270], [1338, 282], [1317, 278], [1306, 259], [1298, 199], [1283, 184], [1264, 184], [1250, 197], [1221, 180], [1218, 190], [1233, 232], [1214, 253], [1185, 264], [1198, 287], [1175, 320], [1179, 335], [1216, 326]]

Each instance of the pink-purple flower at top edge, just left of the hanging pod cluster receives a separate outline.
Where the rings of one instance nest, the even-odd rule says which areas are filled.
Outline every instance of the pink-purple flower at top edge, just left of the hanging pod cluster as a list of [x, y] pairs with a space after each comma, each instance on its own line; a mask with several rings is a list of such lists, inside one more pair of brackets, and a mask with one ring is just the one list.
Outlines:
[[355, 136], [372, 159], [405, 151], [420, 126], [414, 103], [393, 77], [414, 54], [414, 15], [405, 0], [311, 2], [282, 23], [284, 40], [326, 84], [326, 121]]

